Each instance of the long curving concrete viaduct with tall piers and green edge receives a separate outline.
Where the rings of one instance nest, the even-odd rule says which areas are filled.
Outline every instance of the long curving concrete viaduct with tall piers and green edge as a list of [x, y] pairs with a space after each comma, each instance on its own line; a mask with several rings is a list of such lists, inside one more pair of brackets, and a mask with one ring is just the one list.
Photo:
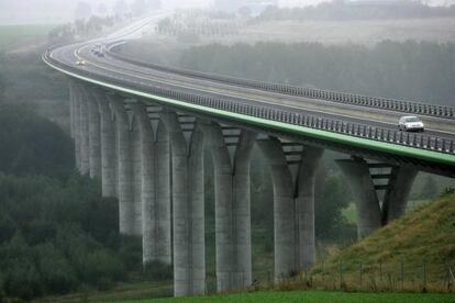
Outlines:
[[[403, 214], [419, 170], [455, 177], [453, 108], [147, 66], [115, 54], [118, 41], [104, 44], [102, 58], [82, 43], [48, 49], [43, 60], [69, 79], [77, 168], [118, 198], [120, 232], [142, 237], [144, 263], [174, 263], [176, 296], [206, 292], [204, 146], [214, 165], [219, 291], [252, 284], [255, 144], [271, 171], [275, 280], [315, 262], [324, 149], [348, 156], [337, 164], [356, 198], [358, 237]], [[76, 66], [80, 58], [87, 64]], [[431, 130], [378, 122], [401, 114], [424, 116]]]

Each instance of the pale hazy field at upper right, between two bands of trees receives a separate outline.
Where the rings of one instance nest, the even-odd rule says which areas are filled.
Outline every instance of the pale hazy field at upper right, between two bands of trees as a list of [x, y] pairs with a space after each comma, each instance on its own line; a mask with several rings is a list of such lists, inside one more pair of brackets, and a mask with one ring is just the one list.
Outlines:
[[455, 19], [368, 20], [368, 21], [273, 21], [245, 26], [238, 35], [222, 37], [220, 43], [320, 42], [371, 45], [384, 40], [455, 42]]

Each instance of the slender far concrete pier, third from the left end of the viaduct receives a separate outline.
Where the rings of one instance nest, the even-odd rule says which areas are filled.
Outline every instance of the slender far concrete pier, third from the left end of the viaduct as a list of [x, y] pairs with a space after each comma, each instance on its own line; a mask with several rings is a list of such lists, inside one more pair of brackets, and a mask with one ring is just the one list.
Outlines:
[[98, 103], [88, 91], [90, 177], [101, 177], [101, 125]]

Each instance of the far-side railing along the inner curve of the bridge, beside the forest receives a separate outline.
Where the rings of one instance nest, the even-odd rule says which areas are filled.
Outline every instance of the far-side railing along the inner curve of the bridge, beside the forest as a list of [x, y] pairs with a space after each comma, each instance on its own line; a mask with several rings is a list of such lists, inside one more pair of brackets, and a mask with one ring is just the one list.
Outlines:
[[141, 66], [145, 66], [145, 67], [159, 70], [159, 71], [173, 72], [173, 74], [177, 74], [181, 76], [196, 77], [200, 79], [207, 79], [211, 81], [218, 81], [221, 83], [229, 83], [229, 85], [241, 86], [241, 87], [246, 87], [246, 88], [255, 88], [255, 89], [260, 89], [264, 91], [277, 92], [277, 93], [295, 96], [295, 97], [311, 98], [311, 99], [331, 101], [331, 102], [343, 103], [343, 104], [359, 105], [359, 106], [389, 110], [389, 111], [403, 112], [403, 113], [410, 113], [410, 114], [430, 115], [430, 116], [455, 120], [455, 108], [453, 106], [434, 105], [434, 104], [426, 104], [426, 103], [421, 103], [421, 102], [396, 100], [396, 99], [379, 98], [379, 97], [367, 97], [367, 96], [362, 96], [362, 94], [302, 88], [302, 87], [296, 87], [296, 86], [289, 86], [289, 85], [282, 85], [282, 83], [270, 83], [270, 82], [264, 82], [264, 81], [256, 81], [252, 79], [242, 79], [242, 78], [234, 78], [234, 77], [222, 76], [222, 75], [213, 75], [213, 74], [200, 72], [200, 71], [175, 68], [175, 67], [167, 67], [167, 66], [145, 63], [138, 59], [132, 59], [126, 56], [123, 56], [119, 54], [118, 52], [113, 50], [119, 45], [120, 45], [119, 42], [109, 44], [106, 47], [106, 52], [108, 53], [108, 55], [116, 59], [123, 60], [125, 63], [130, 63], [133, 65], [140, 64]]

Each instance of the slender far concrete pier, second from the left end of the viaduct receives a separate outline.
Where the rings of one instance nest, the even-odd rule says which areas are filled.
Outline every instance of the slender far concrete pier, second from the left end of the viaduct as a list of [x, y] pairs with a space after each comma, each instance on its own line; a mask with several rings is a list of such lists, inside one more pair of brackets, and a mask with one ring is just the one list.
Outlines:
[[89, 173], [90, 170], [90, 141], [89, 141], [89, 111], [88, 97], [85, 88], [80, 90], [80, 172]]

